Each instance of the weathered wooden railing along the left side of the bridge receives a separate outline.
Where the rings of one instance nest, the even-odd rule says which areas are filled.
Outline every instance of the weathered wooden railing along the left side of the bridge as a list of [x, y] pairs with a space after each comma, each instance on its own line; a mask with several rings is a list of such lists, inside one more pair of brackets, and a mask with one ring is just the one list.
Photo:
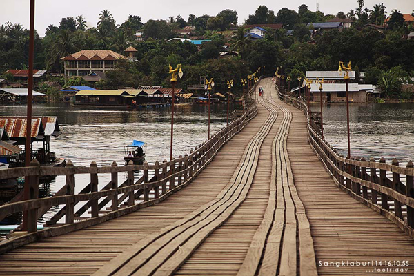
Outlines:
[[[75, 167], [68, 161], [66, 168], [44, 168], [39, 162], [33, 160], [30, 167], [10, 168], [0, 170], [0, 179], [15, 177], [28, 177], [31, 190], [31, 199], [17, 201], [0, 206], [0, 219], [14, 213], [24, 213], [25, 223], [28, 225], [28, 234], [21, 237], [12, 237], [8, 241], [0, 242], [0, 254], [23, 244], [27, 244], [43, 237], [50, 237], [79, 230], [103, 221], [126, 215], [139, 208], [144, 208], [184, 188], [212, 161], [218, 150], [234, 137], [257, 114], [257, 105], [251, 106], [241, 117], [222, 128], [204, 144], [191, 150], [189, 155], [181, 155], [171, 161], [164, 160], [161, 164], [144, 163], [144, 165], [98, 167], [95, 161], [90, 167]], [[143, 175], [137, 181], [135, 171], [142, 171]], [[128, 172], [128, 179], [118, 184], [119, 172]], [[75, 175], [89, 174], [90, 184], [77, 195], [75, 190]], [[98, 175], [110, 174], [111, 181], [98, 191]], [[66, 184], [55, 196], [37, 198], [39, 177], [44, 175], [64, 175]], [[152, 177], [150, 177], [150, 175]], [[135, 203], [136, 199], [141, 199]], [[75, 212], [75, 206], [81, 201], [86, 203]], [[110, 210], [101, 210], [110, 204]], [[53, 227], [37, 231], [37, 219], [53, 206], [63, 205], [47, 224]], [[81, 217], [90, 210], [90, 217]], [[57, 224], [65, 217], [64, 224]]]

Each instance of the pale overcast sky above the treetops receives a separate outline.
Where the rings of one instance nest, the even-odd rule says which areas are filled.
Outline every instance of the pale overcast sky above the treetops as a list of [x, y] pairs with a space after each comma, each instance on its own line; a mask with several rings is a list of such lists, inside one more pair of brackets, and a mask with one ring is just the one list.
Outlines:
[[[402, 13], [410, 13], [414, 10], [413, 0], [366, 0], [365, 6], [371, 9], [376, 3], [382, 3], [387, 8], [388, 14], [397, 8]], [[253, 14], [259, 5], [265, 5], [275, 14], [281, 8], [297, 10], [302, 3], [309, 10], [319, 10], [325, 14], [337, 14], [339, 11], [348, 12], [357, 8], [357, 0], [290, 0], [290, 1], [246, 1], [246, 0], [209, 0], [209, 1], [186, 1], [186, 0], [37, 0], [35, 28], [41, 36], [46, 28], [53, 24], [59, 26], [62, 17], [77, 17], [83, 14], [88, 26], [96, 26], [101, 10], [110, 10], [118, 24], [123, 23], [128, 14], [139, 15], [142, 21], [148, 19], [168, 19], [170, 16], [181, 15], [188, 19], [188, 15], [194, 13], [197, 17], [203, 14], [215, 15], [221, 10], [236, 10], [239, 14], [239, 23], [249, 14]], [[29, 27], [30, 0], [0, 0], [0, 24], [10, 21], [21, 23], [23, 27]]]

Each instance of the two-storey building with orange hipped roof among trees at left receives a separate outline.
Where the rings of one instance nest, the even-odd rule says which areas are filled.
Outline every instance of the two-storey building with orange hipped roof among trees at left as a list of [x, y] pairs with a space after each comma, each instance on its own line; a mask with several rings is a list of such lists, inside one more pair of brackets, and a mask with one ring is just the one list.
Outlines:
[[65, 77], [87, 76], [91, 72], [106, 72], [117, 66], [123, 55], [112, 50], [81, 50], [62, 57], [65, 67]]

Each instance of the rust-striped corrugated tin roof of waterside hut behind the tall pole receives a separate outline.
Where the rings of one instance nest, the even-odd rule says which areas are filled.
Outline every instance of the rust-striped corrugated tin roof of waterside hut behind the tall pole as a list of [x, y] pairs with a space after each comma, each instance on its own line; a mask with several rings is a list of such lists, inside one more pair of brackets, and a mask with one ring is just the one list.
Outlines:
[[[0, 128], [4, 128], [11, 139], [26, 137], [27, 119], [23, 116], [0, 117]], [[30, 136], [43, 139], [44, 136], [58, 136], [60, 128], [57, 117], [32, 117]]]

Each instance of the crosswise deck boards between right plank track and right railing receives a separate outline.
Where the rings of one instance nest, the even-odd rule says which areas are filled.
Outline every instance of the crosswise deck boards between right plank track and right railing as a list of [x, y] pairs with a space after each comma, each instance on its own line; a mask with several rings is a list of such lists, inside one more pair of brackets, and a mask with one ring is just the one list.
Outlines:
[[[280, 101], [279, 101], [280, 102]], [[284, 104], [284, 103], [281, 103]], [[295, 186], [311, 224], [317, 261], [408, 260], [414, 275], [414, 241], [393, 222], [360, 204], [337, 188], [307, 140], [304, 114], [284, 104], [293, 113], [288, 153]], [[377, 268], [397, 266], [377, 266]], [[373, 275], [373, 266], [317, 266], [319, 275]], [[406, 266], [400, 266], [406, 268]], [[370, 271], [373, 271], [369, 273]], [[374, 273], [390, 275], [390, 272]]]

